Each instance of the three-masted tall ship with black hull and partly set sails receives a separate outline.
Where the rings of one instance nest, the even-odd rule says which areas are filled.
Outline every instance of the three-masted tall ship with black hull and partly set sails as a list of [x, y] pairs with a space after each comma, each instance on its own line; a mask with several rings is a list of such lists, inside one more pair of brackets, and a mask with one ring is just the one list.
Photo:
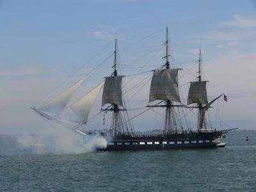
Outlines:
[[[118, 71], [118, 48], [115, 39], [115, 51], [113, 52], [113, 72], [104, 81], [97, 84], [90, 92], [72, 104], [68, 104], [70, 98], [83, 83], [84, 78], [77, 81], [70, 88], [60, 93], [57, 97], [45, 102], [39, 107], [31, 107], [38, 115], [47, 121], [55, 122], [68, 129], [90, 136], [90, 131], [81, 131], [86, 127], [90, 111], [95, 104], [99, 93], [102, 92], [100, 112], [104, 118], [111, 113], [111, 124], [108, 130], [100, 131], [100, 136], [106, 138], [107, 145], [97, 147], [96, 150], [162, 150], [173, 148], [216, 148], [225, 147], [222, 138], [231, 129], [220, 130], [212, 127], [206, 120], [206, 113], [212, 104], [225, 96], [219, 95], [208, 101], [207, 81], [201, 76], [201, 50], [198, 60], [198, 72], [196, 81], [190, 82], [187, 104], [183, 104], [179, 93], [179, 71], [182, 68], [173, 68], [170, 65], [168, 28], [166, 28], [166, 40], [164, 42], [164, 64], [151, 70], [152, 79], [149, 88], [148, 104], [144, 111], [134, 116], [127, 112], [127, 105], [124, 99], [123, 79]], [[196, 76], [196, 74], [195, 74]], [[101, 91], [102, 90], [102, 91]], [[143, 113], [150, 109], [164, 109], [163, 128], [158, 132], [140, 134], [134, 131], [132, 120], [140, 118]], [[186, 119], [186, 113], [196, 113], [196, 129], [192, 129]], [[184, 112], [189, 111], [189, 112]], [[196, 111], [196, 112], [195, 112]], [[92, 115], [93, 116], [93, 115]], [[72, 122], [72, 127], [67, 125]], [[147, 124], [145, 124], [147, 125]]]

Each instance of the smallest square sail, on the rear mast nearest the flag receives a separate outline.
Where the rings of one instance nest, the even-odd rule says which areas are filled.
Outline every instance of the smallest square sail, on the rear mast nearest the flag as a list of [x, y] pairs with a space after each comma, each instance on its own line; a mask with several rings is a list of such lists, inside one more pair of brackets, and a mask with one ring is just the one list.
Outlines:
[[206, 82], [207, 81], [191, 82], [188, 92], [188, 105], [192, 103], [208, 104]]

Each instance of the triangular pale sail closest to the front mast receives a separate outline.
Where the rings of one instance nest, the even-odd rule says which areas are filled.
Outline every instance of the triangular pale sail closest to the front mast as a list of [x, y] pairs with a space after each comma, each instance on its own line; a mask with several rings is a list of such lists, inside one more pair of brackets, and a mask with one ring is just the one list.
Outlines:
[[90, 111], [103, 84], [104, 82], [98, 84], [92, 91], [86, 93], [86, 95], [74, 102], [74, 104], [64, 111], [63, 115], [70, 118], [73, 122], [86, 124]]

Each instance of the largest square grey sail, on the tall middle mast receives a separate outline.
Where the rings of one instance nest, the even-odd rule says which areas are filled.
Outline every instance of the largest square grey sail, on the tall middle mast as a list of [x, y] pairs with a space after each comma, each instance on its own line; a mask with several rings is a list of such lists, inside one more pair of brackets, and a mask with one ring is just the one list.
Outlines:
[[178, 71], [178, 68], [154, 71], [150, 85], [149, 102], [154, 100], [172, 100], [180, 102]]

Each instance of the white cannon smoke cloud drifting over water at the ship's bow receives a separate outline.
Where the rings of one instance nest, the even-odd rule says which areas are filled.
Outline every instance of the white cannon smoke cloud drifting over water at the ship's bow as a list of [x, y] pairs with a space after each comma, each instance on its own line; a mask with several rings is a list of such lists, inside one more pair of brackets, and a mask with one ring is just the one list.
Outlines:
[[102, 136], [87, 136], [56, 127], [42, 135], [20, 136], [18, 143], [20, 149], [33, 154], [82, 154], [106, 148], [108, 141]]

